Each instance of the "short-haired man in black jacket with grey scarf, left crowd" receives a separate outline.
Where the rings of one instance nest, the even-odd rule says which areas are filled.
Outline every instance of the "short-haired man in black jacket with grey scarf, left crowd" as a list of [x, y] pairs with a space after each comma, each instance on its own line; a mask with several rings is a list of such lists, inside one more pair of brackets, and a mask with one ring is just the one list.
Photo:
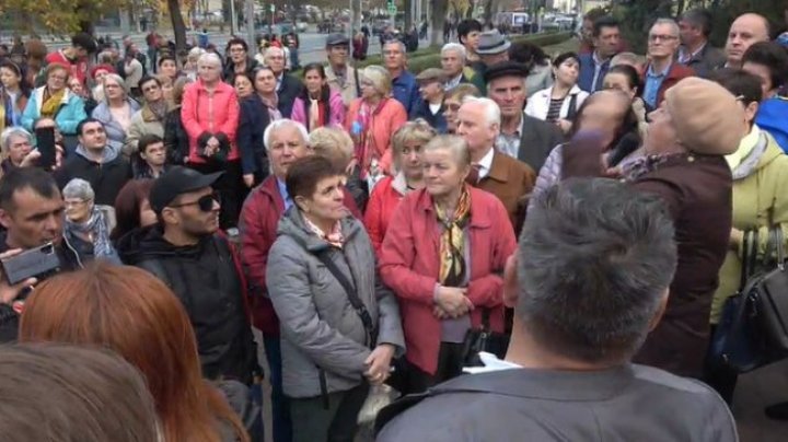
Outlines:
[[77, 126], [79, 146], [66, 165], [56, 173], [58, 186], [63, 188], [73, 178], [82, 178], [95, 191], [95, 203], [115, 205], [115, 197], [131, 179], [131, 165], [120, 154], [120, 147], [107, 143], [104, 125], [85, 118]]

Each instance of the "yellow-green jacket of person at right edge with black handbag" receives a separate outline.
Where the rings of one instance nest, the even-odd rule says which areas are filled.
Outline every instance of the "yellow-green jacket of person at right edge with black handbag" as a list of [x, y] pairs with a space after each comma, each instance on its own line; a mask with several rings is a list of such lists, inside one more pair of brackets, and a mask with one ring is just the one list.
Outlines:
[[[766, 131], [767, 147], [755, 170], [733, 181], [733, 228], [758, 230], [758, 255], [763, 256], [770, 225], [779, 224], [788, 239], [788, 155]], [[785, 246], [785, 245], [784, 245]], [[719, 271], [719, 288], [711, 304], [711, 324], [719, 322], [725, 301], [735, 294], [741, 279], [743, 247], [728, 251]]]

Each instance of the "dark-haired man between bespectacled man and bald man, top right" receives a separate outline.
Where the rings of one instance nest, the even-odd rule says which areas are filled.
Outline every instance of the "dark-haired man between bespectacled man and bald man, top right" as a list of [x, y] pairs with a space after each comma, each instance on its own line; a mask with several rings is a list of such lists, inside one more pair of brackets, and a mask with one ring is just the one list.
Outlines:
[[679, 20], [682, 46], [676, 60], [695, 70], [698, 77], [707, 77], [725, 63], [721, 49], [711, 47], [708, 40], [711, 34], [711, 14], [704, 9], [694, 9], [682, 14]]

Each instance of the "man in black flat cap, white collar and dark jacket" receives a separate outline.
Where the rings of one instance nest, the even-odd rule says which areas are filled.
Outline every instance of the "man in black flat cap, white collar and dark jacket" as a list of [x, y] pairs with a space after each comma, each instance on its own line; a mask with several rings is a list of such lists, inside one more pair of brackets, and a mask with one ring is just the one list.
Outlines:
[[528, 91], [528, 69], [521, 63], [507, 61], [493, 67], [485, 74], [487, 96], [500, 107], [498, 150], [538, 171], [553, 148], [564, 142], [556, 125], [530, 117], [523, 112]]

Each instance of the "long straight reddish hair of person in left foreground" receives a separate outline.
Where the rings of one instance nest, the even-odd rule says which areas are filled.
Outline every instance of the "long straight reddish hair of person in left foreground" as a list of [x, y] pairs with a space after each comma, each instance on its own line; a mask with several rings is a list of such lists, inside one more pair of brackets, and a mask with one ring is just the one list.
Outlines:
[[224, 397], [202, 380], [183, 305], [142, 269], [96, 261], [45, 281], [25, 302], [20, 341], [99, 345], [117, 351], [144, 374], [167, 442], [218, 442], [219, 422], [248, 441]]

